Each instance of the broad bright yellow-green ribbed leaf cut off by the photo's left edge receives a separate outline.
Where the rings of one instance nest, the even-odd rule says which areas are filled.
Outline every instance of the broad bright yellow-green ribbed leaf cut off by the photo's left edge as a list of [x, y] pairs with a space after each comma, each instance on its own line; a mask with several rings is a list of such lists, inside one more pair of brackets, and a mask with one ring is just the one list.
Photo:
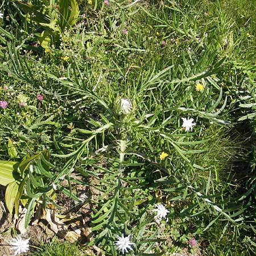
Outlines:
[[3, 186], [8, 185], [9, 183], [15, 181], [13, 176], [16, 171], [18, 162], [11, 162], [0, 160], [0, 184]]

